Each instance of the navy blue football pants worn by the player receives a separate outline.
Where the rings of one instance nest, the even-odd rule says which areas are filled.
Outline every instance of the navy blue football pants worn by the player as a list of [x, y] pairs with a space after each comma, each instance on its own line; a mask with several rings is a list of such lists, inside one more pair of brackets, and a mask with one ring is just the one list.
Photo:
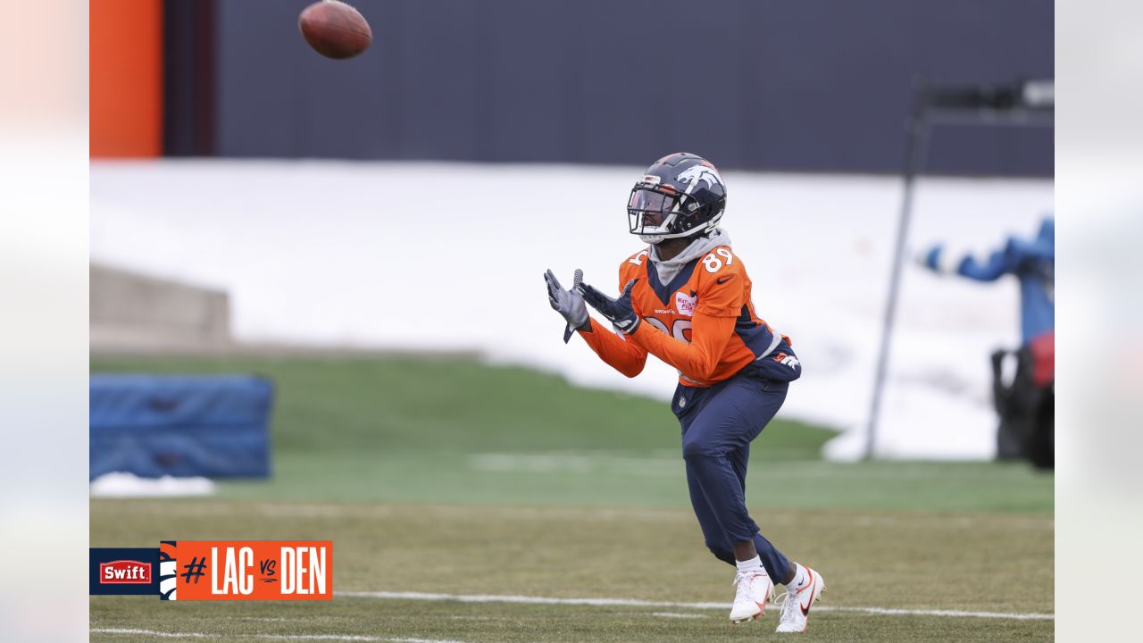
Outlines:
[[733, 565], [732, 547], [753, 540], [776, 584], [790, 574], [790, 561], [758, 533], [746, 511], [746, 461], [751, 440], [778, 412], [789, 389], [790, 382], [740, 374], [710, 388], [679, 384], [671, 404], [682, 426], [690, 505], [706, 547]]

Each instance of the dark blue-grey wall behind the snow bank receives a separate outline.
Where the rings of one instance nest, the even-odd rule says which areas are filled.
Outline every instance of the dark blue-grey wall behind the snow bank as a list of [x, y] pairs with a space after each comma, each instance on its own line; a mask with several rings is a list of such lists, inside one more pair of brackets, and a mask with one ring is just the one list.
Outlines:
[[[1054, 76], [1047, 0], [358, 0], [351, 61], [306, 3], [217, 3], [217, 153], [897, 172], [914, 76]], [[928, 169], [1050, 175], [1052, 130], [943, 128]]]

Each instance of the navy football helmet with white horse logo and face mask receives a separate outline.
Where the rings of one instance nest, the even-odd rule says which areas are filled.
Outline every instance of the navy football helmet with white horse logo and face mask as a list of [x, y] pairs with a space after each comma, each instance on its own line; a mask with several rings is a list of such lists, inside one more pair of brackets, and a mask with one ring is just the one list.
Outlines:
[[705, 235], [726, 209], [726, 183], [706, 159], [676, 152], [655, 161], [628, 199], [632, 235], [648, 244]]

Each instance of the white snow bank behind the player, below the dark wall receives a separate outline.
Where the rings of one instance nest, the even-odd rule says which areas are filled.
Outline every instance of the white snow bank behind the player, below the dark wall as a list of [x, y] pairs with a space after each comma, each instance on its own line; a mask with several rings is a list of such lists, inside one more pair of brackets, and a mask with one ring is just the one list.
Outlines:
[[[616, 286], [639, 249], [624, 205], [641, 167], [346, 161], [91, 164], [91, 259], [231, 293], [240, 340], [475, 349], [570, 381], [669, 399], [672, 368], [629, 380], [560, 341], [541, 276]], [[725, 172], [724, 217], [760, 316], [804, 376], [783, 407], [860, 454], [901, 198], [895, 177]], [[930, 178], [909, 243], [988, 252], [1029, 236], [1050, 181]], [[994, 452], [988, 355], [1018, 341], [1017, 288], [906, 267], [877, 451]]]

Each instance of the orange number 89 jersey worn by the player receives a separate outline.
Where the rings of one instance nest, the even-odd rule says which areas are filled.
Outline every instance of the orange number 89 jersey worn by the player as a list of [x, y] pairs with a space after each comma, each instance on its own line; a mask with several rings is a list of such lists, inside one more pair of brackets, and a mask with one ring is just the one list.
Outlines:
[[[751, 283], [729, 246], [718, 246], [664, 284], [648, 251], [620, 265], [620, 289], [637, 279], [631, 305], [642, 323], [630, 335], [581, 331], [605, 362], [633, 378], [652, 354], [679, 371], [679, 382], [709, 387], [767, 356], [784, 339], [754, 313]], [[789, 341], [789, 340], [788, 340]]]

